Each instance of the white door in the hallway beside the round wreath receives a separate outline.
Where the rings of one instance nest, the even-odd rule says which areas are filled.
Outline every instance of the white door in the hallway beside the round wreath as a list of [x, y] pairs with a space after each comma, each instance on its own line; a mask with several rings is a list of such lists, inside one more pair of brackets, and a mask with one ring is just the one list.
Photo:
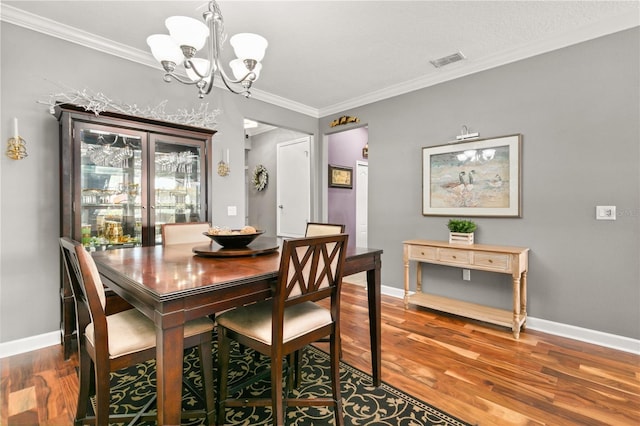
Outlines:
[[277, 147], [278, 237], [303, 237], [311, 218], [311, 136]]

